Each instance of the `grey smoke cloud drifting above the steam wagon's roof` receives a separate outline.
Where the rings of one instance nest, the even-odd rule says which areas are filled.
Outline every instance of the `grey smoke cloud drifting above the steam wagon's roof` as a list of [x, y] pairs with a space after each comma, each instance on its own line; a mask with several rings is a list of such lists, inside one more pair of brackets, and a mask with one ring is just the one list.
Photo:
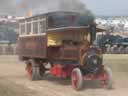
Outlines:
[[28, 11], [41, 14], [51, 11], [89, 11], [80, 0], [0, 0], [0, 13], [25, 15]]

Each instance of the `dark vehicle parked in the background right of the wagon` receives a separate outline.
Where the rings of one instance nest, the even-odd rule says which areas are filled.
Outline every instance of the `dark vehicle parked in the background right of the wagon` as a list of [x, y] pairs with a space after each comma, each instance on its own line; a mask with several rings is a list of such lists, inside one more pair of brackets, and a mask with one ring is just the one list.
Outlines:
[[119, 35], [103, 35], [97, 41], [97, 45], [104, 50], [105, 53], [127, 54], [128, 38]]

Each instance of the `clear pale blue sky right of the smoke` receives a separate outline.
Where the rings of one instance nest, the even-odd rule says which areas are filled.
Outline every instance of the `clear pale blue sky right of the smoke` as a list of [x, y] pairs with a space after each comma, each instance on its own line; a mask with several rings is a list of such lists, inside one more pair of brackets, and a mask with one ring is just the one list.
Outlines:
[[96, 15], [127, 15], [128, 0], [81, 0]]

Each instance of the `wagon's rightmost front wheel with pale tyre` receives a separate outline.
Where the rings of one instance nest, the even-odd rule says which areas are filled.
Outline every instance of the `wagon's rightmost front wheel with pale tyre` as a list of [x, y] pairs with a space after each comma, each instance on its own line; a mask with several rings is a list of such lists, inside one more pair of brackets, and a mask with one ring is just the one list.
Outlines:
[[106, 80], [104, 81], [105, 87], [107, 89], [112, 89], [112, 71], [111, 71], [111, 69], [106, 67], [104, 69], [104, 74], [107, 77]]

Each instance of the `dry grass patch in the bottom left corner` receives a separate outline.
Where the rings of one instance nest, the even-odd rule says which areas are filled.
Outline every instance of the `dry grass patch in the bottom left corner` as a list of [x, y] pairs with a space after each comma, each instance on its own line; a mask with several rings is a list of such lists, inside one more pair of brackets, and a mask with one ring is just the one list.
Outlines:
[[32, 96], [34, 92], [8, 80], [0, 80], [0, 96]]

